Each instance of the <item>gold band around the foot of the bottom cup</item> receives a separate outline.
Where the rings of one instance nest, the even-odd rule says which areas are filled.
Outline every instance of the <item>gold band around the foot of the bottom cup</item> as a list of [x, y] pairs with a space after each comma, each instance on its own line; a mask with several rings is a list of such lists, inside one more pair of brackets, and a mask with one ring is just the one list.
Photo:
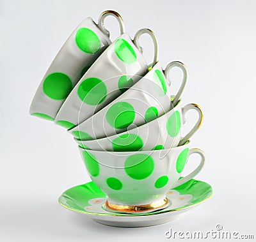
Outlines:
[[145, 205], [136, 205], [136, 206], [124, 206], [124, 205], [116, 205], [111, 204], [106, 200], [106, 208], [120, 211], [120, 212], [129, 212], [129, 213], [140, 213], [144, 211], [150, 211], [152, 209], [161, 208], [169, 203], [167, 197], [161, 200], [158, 200], [156, 202], [153, 202], [152, 204], [145, 204]]

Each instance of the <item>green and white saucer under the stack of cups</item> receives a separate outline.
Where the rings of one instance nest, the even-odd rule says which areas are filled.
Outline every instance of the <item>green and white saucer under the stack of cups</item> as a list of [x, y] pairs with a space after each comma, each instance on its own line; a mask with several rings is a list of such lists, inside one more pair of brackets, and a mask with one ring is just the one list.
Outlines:
[[191, 179], [166, 193], [170, 205], [158, 211], [141, 214], [115, 213], [105, 208], [106, 194], [93, 181], [74, 186], [59, 198], [61, 206], [85, 213], [95, 222], [115, 227], [147, 227], [167, 223], [195, 208], [212, 196], [212, 187], [204, 181]]

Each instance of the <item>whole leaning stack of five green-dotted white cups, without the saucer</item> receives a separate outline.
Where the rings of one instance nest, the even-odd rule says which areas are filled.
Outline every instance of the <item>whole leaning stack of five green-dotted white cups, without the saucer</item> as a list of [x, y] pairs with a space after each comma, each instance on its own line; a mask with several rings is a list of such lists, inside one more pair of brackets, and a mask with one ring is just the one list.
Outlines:
[[[118, 20], [120, 36], [111, 43], [107, 16]], [[148, 65], [139, 44], [148, 34], [154, 59]], [[179, 91], [171, 94], [170, 71], [183, 73]], [[92, 181], [107, 196], [104, 208], [116, 213], [148, 213], [166, 208], [166, 192], [192, 179], [202, 169], [204, 153], [189, 139], [202, 123], [202, 110], [180, 100], [187, 70], [179, 61], [163, 70], [156, 35], [140, 29], [125, 33], [122, 17], [104, 11], [99, 24], [86, 18], [61, 47], [33, 98], [30, 114], [67, 128]], [[196, 110], [193, 128], [183, 132], [185, 116]], [[200, 164], [180, 178], [188, 158]]]

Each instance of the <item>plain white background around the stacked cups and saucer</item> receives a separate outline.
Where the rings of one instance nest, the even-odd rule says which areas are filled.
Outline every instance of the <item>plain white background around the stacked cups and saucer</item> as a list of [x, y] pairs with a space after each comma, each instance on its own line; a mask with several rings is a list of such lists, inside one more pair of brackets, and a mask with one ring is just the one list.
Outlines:
[[[183, 104], [204, 109], [192, 146], [207, 155], [196, 178], [210, 183], [214, 196], [172, 223], [107, 227], [62, 208], [59, 195], [90, 179], [72, 137], [28, 114], [36, 87], [68, 35], [85, 17], [97, 22], [108, 9], [122, 15], [131, 36], [142, 27], [156, 32], [163, 67], [173, 60], [188, 67]], [[218, 223], [225, 231], [256, 236], [255, 11], [255, 1], [1, 0], [0, 240], [168, 241], [164, 232], [170, 228], [204, 232]], [[113, 40], [115, 20], [109, 18], [107, 26]], [[150, 40], [143, 47], [149, 63]]]

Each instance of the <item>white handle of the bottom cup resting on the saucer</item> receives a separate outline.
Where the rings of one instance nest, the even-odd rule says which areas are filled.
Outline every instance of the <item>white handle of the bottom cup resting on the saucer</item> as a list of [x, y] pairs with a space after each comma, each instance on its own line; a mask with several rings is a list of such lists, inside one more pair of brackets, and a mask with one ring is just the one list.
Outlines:
[[[204, 163], [205, 163], [205, 155], [204, 155], [204, 151], [202, 151], [201, 149], [198, 148], [192, 148], [189, 150], [189, 155], [188, 155], [188, 159], [189, 156], [191, 156], [192, 154], [198, 154], [201, 156], [201, 162], [199, 163], [199, 165], [196, 167], [195, 170], [193, 170], [193, 172], [189, 173], [188, 176], [185, 176], [184, 178], [179, 179], [175, 185], [173, 187], [176, 186], [180, 186], [183, 183], [186, 183], [187, 181], [189, 181], [190, 179], [194, 178], [199, 172], [200, 170], [202, 170], [202, 168], [204, 167]], [[188, 162], [188, 161], [187, 161]]]

